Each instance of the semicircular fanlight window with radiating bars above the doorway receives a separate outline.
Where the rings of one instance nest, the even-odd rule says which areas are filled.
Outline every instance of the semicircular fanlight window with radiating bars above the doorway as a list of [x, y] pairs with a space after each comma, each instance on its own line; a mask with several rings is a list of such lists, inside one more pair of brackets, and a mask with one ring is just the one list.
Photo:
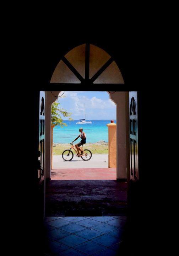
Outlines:
[[124, 80], [107, 52], [86, 43], [70, 50], [60, 60], [50, 83], [124, 84]]

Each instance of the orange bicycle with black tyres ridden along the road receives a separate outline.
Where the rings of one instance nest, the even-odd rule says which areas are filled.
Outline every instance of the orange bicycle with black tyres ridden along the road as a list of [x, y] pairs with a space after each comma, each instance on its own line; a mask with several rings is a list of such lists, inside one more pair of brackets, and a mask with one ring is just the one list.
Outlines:
[[[71, 145], [70, 149], [66, 149], [62, 153], [62, 158], [65, 161], [71, 161], [73, 159], [74, 153], [71, 151], [72, 149], [77, 153], [75, 146], [72, 143], [70, 143], [70, 145]], [[82, 147], [83, 147], [83, 145], [82, 145]], [[80, 156], [84, 161], [88, 161], [89, 159], [91, 159], [92, 153], [89, 149], [82, 149], [82, 147], [79, 148]]]

